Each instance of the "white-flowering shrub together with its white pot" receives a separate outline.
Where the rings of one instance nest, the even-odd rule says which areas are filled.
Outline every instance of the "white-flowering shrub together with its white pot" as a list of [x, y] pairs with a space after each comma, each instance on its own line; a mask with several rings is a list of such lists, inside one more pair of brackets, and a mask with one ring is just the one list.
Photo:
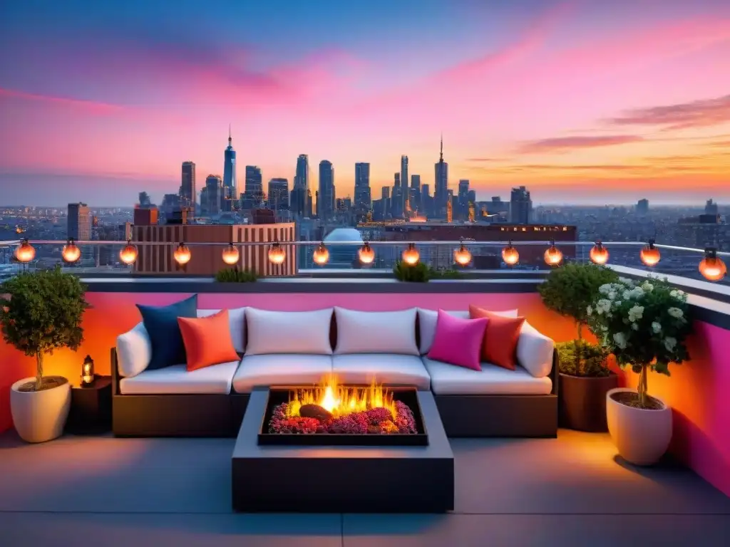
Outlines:
[[648, 373], [669, 376], [669, 363], [689, 358], [687, 295], [669, 283], [629, 279], [605, 284], [588, 308], [589, 324], [618, 365], [639, 374], [637, 389], [615, 388], [606, 396], [608, 430], [618, 453], [636, 465], [660, 459], [672, 440], [672, 409], [648, 394]]

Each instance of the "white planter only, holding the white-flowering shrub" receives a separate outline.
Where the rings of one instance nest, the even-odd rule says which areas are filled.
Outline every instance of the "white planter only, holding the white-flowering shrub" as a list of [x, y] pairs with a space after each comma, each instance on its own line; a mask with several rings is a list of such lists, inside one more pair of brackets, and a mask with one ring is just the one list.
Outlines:
[[662, 405], [659, 410], [626, 406], [611, 398], [619, 392], [636, 390], [618, 387], [606, 394], [606, 418], [613, 443], [627, 462], [652, 465], [664, 456], [672, 441], [672, 408], [656, 397]]

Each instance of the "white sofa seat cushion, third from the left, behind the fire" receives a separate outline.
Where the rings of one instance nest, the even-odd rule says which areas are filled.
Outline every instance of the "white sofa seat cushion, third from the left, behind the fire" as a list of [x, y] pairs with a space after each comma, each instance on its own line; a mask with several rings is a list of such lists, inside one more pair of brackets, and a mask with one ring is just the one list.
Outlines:
[[332, 373], [341, 384], [372, 382], [391, 386], [429, 389], [431, 377], [423, 361], [415, 355], [354, 353], [332, 357]]

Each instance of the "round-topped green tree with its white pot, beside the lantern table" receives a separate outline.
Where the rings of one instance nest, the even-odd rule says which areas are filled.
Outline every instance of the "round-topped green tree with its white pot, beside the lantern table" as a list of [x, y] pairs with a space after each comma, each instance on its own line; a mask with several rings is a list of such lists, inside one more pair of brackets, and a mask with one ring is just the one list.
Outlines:
[[55, 349], [81, 345], [81, 320], [88, 308], [84, 292], [77, 276], [58, 267], [25, 272], [0, 285], [3, 338], [36, 360], [36, 376], [10, 388], [13, 424], [28, 443], [50, 441], [64, 431], [71, 384], [61, 376], [43, 376], [43, 361]]

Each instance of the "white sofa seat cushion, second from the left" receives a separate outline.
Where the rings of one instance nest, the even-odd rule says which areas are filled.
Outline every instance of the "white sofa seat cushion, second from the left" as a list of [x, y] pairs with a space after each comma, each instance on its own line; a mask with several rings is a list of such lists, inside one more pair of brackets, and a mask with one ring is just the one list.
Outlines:
[[237, 393], [259, 386], [312, 386], [331, 376], [332, 357], [313, 354], [246, 354], [233, 378]]

